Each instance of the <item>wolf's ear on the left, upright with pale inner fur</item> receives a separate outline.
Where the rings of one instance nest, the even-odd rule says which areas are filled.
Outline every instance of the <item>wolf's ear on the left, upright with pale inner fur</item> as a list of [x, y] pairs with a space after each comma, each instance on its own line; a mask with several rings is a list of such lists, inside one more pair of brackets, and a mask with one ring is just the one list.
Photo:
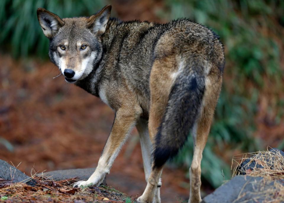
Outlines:
[[64, 25], [64, 22], [57, 15], [46, 9], [38, 8], [36, 13], [38, 14], [38, 22], [43, 33], [48, 38], [54, 37], [59, 28]]

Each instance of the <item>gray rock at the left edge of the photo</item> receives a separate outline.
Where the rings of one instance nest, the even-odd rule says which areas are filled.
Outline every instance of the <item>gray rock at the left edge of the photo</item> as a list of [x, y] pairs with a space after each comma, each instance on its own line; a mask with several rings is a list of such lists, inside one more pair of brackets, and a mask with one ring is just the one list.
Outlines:
[[12, 183], [26, 182], [31, 186], [34, 186], [36, 184], [35, 180], [31, 179], [25, 173], [3, 160], [0, 160], [0, 178], [4, 180], [11, 180]]

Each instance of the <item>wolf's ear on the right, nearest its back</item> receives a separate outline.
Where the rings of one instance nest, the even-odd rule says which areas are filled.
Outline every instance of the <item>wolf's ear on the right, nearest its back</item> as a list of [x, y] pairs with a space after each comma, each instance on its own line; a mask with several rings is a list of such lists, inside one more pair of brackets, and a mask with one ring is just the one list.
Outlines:
[[112, 10], [111, 5], [105, 6], [98, 13], [92, 15], [88, 19], [87, 27], [98, 35], [104, 34], [106, 31], [106, 23], [109, 20], [110, 11]]

